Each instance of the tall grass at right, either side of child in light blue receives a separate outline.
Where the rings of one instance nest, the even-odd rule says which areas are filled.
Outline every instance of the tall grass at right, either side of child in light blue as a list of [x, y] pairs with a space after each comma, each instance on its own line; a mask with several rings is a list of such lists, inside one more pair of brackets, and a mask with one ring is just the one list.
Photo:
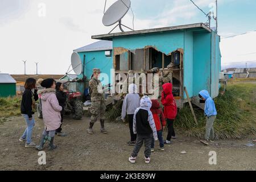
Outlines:
[[[256, 84], [230, 82], [224, 95], [214, 99], [218, 112], [214, 122], [216, 138], [242, 139], [256, 134]], [[198, 125], [185, 105], [177, 115], [175, 126], [189, 137], [203, 138], [204, 111], [194, 108]]]

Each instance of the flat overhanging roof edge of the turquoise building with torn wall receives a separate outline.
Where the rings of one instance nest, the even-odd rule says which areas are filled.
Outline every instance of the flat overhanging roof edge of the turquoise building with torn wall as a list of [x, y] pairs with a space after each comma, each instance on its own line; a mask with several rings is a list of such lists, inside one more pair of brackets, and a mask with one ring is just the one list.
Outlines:
[[183, 30], [183, 29], [188, 29], [188, 28], [202, 28], [203, 30], [206, 30], [208, 32], [212, 31], [204, 23], [195, 23], [195, 24], [185, 24], [185, 25], [173, 26], [173, 27], [152, 28], [152, 29], [147, 29], [147, 30], [127, 31], [127, 32], [119, 32], [119, 33], [113, 33], [113, 34], [103, 34], [103, 35], [93, 35], [92, 39], [112, 40], [113, 37], [115, 37], [115, 36], [148, 34], [148, 33], [154, 33], [154, 32]]

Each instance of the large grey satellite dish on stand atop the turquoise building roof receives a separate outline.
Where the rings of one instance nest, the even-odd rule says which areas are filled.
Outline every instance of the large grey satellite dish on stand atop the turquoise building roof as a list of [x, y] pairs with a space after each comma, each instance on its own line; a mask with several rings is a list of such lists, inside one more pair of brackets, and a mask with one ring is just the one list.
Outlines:
[[[102, 18], [102, 23], [105, 26], [112, 26], [113, 24], [118, 24], [109, 32], [109, 34], [117, 27], [119, 26], [120, 30], [124, 32], [123, 27], [129, 28], [122, 24], [122, 18], [127, 14], [131, 7], [131, 1], [130, 0], [118, 0], [116, 1], [112, 6], [109, 7], [109, 9], [105, 12], [106, 8], [106, 2], [104, 7], [104, 16]], [[130, 30], [134, 31], [132, 28], [129, 28]]]

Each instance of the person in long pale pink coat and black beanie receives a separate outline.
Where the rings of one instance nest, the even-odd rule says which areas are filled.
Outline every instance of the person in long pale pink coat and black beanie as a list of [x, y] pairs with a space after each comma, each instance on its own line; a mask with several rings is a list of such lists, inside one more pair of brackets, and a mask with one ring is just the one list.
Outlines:
[[38, 150], [43, 150], [44, 143], [49, 140], [49, 150], [56, 148], [53, 144], [55, 130], [61, 125], [60, 111], [62, 107], [56, 97], [55, 80], [48, 78], [43, 80], [41, 86], [46, 89], [39, 90], [42, 101], [42, 114], [44, 121], [44, 131], [39, 146], [36, 146]]

